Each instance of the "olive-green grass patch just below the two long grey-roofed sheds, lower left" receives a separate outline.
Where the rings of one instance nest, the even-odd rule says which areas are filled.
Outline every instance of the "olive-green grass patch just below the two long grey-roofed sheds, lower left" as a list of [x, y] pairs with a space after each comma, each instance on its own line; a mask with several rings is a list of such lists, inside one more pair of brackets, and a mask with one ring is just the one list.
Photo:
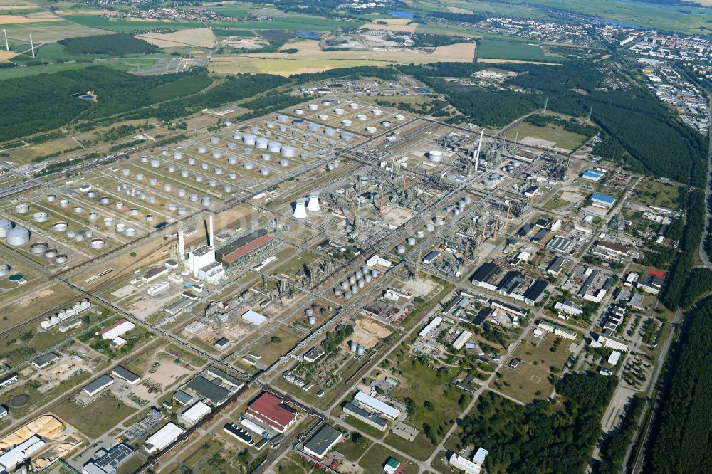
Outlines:
[[89, 438], [98, 438], [120, 421], [131, 416], [137, 409], [127, 406], [117, 399], [102, 396], [85, 409], [80, 409], [69, 400], [63, 401], [54, 413]]

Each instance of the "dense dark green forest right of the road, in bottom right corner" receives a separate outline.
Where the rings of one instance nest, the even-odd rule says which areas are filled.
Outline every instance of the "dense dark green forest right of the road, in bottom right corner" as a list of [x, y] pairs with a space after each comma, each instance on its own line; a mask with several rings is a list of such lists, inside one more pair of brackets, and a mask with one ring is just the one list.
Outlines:
[[686, 318], [678, 357], [670, 362], [671, 376], [662, 394], [646, 473], [712, 471], [712, 301]]

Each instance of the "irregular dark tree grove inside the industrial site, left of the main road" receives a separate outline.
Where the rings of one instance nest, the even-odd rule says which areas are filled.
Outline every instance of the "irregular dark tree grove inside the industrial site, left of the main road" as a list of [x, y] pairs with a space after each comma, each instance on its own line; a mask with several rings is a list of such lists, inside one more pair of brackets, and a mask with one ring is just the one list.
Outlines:
[[461, 443], [486, 446], [491, 473], [583, 473], [601, 435], [601, 417], [616, 377], [566, 374], [557, 401], [520, 406], [491, 391], [461, 422]]

